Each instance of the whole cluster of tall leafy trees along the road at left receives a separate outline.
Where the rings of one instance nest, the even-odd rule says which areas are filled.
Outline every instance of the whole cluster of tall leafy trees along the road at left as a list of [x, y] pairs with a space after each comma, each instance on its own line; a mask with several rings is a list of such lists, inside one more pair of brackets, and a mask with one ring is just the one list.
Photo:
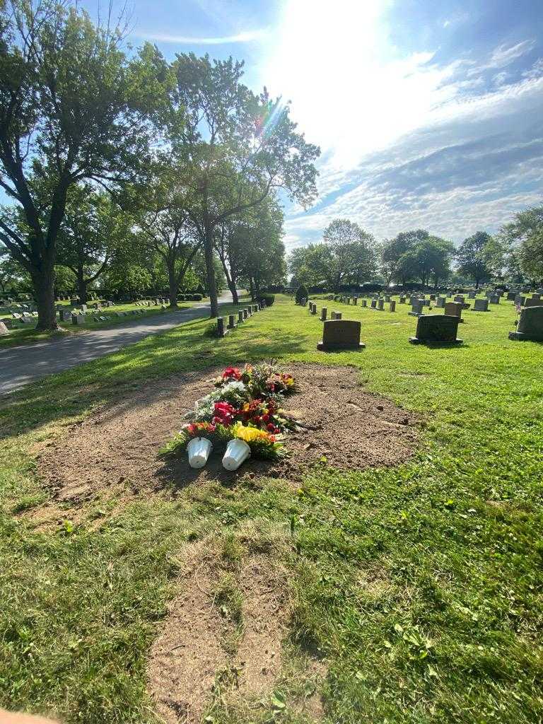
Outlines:
[[0, 283], [32, 290], [38, 329], [56, 328], [61, 286], [82, 301], [162, 289], [176, 306], [201, 284], [216, 316], [218, 281], [236, 298], [284, 279], [279, 190], [316, 197], [320, 151], [288, 104], [232, 59], [127, 52], [123, 22], [0, 4]]

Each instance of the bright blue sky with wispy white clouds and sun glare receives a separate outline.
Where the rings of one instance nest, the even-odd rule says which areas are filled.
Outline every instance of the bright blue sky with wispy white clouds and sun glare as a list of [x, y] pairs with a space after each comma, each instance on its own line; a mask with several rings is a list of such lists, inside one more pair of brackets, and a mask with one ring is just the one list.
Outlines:
[[[85, 3], [92, 12], [96, 4]], [[135, 0], [135, 45], [244, 59], [321, 146], [319, 201], [287, 248], [337, 216], [377, 238], [455, 242], [543, 202], [541, 0]]]

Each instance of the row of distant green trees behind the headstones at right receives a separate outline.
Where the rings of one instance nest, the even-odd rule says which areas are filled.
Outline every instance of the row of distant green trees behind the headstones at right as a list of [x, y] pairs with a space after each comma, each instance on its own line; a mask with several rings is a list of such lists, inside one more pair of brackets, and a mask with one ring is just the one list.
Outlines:
[[542, 284], [543, 206], [515, 214], [497, 235], [476, 232], [458, 248], [424, 229], [379, 243], [358, 224], [334, 219], [321, 242], [292, 250], [288, 271], [293, 287], [334, 292], [369, 283]]

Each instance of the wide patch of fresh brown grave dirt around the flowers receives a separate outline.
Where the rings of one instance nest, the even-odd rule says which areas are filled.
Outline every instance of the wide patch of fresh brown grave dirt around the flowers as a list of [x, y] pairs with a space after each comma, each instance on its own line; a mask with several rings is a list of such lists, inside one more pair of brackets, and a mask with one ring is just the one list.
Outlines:
[[417, 418], [391, 400], [365, 392], [352, 367], [288, 364], [298, 392], [285, 408], [303, 425], [287, 435], [287, 458], [249, 460], [239, 471], [224, 471], [222, 450], [205, 468], [193, 470], [186, 458], [164, 462], [159, 448], [180, 429], [182, 416], [211, 392], [222, 369], [149, 381], [143, 390], [110, 403], [66, 437], [47, 443], [38, 471], [61, 501], [92, 498], [108, 487], [137, 495], [140, 489], [181, 489], [194, 481], [235, 481], [245, 473], [300, 480], [313, 464], [339, 470], [395, 466], [416, 445]]

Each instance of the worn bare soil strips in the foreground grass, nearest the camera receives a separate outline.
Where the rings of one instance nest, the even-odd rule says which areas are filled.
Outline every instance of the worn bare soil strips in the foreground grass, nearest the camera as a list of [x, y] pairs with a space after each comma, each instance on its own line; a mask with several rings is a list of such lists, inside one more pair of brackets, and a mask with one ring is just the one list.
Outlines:
[[[148, 689], [156, 712], [167, 724], [197, 724], [216, 704], [248, 712], [281, 681], [282, 640], [288, 628], [287, 571], [268, 555], [244, 557], [235, 573], [243, 599], [241, 635], [235, 652], [222, 642], [235, 623], [220, 613], [217, 590], [222, 570], [212, 540], [190, 550], [180, 593], [148, 657]], [[297, 672], [314, 681], [310, 696], [289, 702], [313, 720], [323, 715], [319, 691], [324, 662], [306, 657]]]

